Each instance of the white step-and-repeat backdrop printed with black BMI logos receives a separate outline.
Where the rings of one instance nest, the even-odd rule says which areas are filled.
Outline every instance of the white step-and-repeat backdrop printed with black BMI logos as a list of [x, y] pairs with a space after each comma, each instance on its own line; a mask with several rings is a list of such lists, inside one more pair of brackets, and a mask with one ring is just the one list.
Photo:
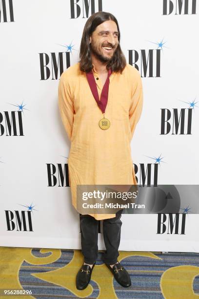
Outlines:
[[[118, 19], [122, 51], [142, 78], [131, 142], [138, 184], [199, 184], [199, 0], [0, 0], [0, 246], [80, 248], [58, 84], [98, 11]], [[199, 252], [189, 204], [122, 222], [120, 250]]]

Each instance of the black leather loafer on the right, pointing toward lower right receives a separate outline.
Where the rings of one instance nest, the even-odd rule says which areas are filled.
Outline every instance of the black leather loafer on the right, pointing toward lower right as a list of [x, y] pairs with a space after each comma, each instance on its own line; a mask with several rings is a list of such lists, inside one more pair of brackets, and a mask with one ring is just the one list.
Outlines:
[[118, 283], [127, 288], [131, 285], [131, 278], [128, 274], [128, 272], [120, 265], [120, 263], [115, 264], [113, 268], [111, 266], [107, 265], [106, 266], [109, 268], [109, 270], [113, 273], [114, 277], [118, 281]]

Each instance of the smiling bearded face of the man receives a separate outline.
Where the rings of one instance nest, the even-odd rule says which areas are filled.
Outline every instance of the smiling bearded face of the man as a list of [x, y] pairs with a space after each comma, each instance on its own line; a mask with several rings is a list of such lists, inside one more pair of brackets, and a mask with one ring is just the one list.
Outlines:
[[114, 21], [105, 21], [90, 36], [92, 54], [102, 63], [112, 59], [118, 46], [118, 27]]

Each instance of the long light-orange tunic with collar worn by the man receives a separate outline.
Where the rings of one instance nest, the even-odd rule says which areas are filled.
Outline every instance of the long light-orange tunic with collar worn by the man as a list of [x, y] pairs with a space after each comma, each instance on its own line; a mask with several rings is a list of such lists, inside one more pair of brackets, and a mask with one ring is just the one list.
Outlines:
[[[94, 68], [94, 77], [98, 74]], [[102, 130], [103, 114], [79, 63], [61, 74], [58, 88], [60, 116], [71, 141], [68, 157], [73, 206], [77, 209], [77, 185], [136, 185], [130, 142], [142, 110], [139, 71], [127, 64], [122, 74], [110, 76], [105, 117], [110, 128]], [[99, 97], [102, 83], [96, 80]], [[97, 220], [115, 214], [90, 214]]]

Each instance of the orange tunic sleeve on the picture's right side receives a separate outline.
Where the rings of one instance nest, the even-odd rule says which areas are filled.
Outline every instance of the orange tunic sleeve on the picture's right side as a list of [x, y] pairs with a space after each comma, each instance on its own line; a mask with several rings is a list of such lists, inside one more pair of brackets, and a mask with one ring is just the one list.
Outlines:
[[[142, 106], [143, 106], [143, 91], [142, 91], [142, 83], [139, 72], [136, 70], [136, 85], [133, 92], [133, 96], [131, 98], [131, 106], [129, 108], [129, 123], [131, 128], [131, 138], [133, 137], [136, 125], [139, 121]], [[134, 77], [135, 81], [135, 77]]]

